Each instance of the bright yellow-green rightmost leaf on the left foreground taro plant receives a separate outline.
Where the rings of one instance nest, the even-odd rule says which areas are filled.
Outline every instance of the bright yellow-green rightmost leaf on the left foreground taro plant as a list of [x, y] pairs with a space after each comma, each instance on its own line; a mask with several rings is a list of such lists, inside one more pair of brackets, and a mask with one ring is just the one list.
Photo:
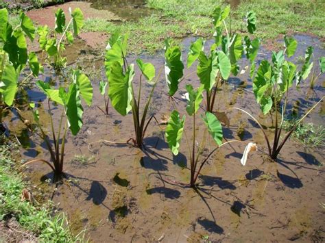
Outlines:
[[80, 70], [73, 71], [73, 83], [77, 84], [77, 89], [80, 91], [81, 97], [86, 101], [88, 106], [93, 102], [93, 86], [91, 81]]

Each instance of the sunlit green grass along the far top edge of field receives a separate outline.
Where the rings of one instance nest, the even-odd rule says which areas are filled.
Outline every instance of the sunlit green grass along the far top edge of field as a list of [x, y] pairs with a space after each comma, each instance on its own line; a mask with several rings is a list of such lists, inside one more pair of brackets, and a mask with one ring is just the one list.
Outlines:
[[[130, 52], [140, 53], [163, 48], [165, 38], [180, 39], [189, 34], [211, 38], [213, 25], [210, 15], [215, 6], [226, 5], [221, 0], [147, 0], [147, 7], [158, 14], [136, 22], [113, 23], [100, 18], [86, 20], [84, 31], [105, 31], [109, 34], [120, 30], [130, 36]], [[323, 0], [248, 0], [232, 10], [232, 30], [246, 33], [243, 22], [246, 12], [254, 10], [258, 23], [256, 36], [274, 40], [279, 34], [310, 33], [325, 37]]]

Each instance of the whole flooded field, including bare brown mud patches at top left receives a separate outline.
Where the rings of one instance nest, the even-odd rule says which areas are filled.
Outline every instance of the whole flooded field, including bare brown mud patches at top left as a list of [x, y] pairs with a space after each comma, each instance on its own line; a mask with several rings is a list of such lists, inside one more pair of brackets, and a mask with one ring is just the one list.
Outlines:
[[[236, 7], [240, 1], [229, 1]], [[60, 5], [64, 11], [69, 6], [87, 9], [85, 18], [100, 14], [107, 21], [136, 21], [155, 14], [157, 10], [146, 8], [145, 1], [72, 1]], [[53, 27], [53, 12], [58, 6], [31, 10], [27, 15], [34, 21]], [[136, 11], [135, 11], [136, 10]], [[51, 13], [51, 14], [49, 14]], [[296, 54], [291, 62], [302, 64], [306, 48], [314, 47], [314, 58], [325, 55], [324, 41], [307, 34], [295, 34], [298, 41]], [[182, 60], [185, 63], [189, 47], [197, 37], [187, 37], [181, 42]], [[247, 66], [239, 62], [241, 74], [230, 75], [228, 81], [218, 87], [215, 110], [226, 112], [230, 125], [223, 126], [225, 140], [241, 140], [245, 144], [256, 142], [258, 151], [249, 156], [245, 166], [240, 159], [245, 144], [227, 144], [210, 157], [198, 177], [197, 188], [189, 188], [190, 162], [183, 138], [180, 153], [171, 153], [165, 138], [166, 117], [176, 109], [186, 114], [185, 85], [200, 86], [196, 64], [184, 68], [184, 77], [178, 92], [171, 99], [167, 94], [164, 72], [158, 84], [149, 115], [152, 120], [140, 149], [127, 142], [135, 138], [132, 116], [121, 116], [109, 103], [108, 115], [104, 114], [104, 97], [99, 92], [99, 81], [106, 80], [104, 53], [108, 35], [82, 33], [75, 43], [68, 46], [67, 69], [58, 75], [45, 66], [38, 79], [58, 87], [68, 83], [69, 69], [80, 68], [88, 74], [93, 85], [93, 105], [84, 106], [83, 125], [77, 136], [68, 133], [64, 153], [64, 173], [67, 178], [53, 183], [53, 172], [44, 164], [30, 164], [25, 169], [26, 179], [34, 188], [42, 190], [45, 199], [58, 205], [58, 211], [67, 214], [73, 233], [85, 230], [90, 242], [322, 242], [324, 229], [324, 144], [317, 148], [305, 146], [297, 140], [289, 140], [282, 149], [278, 161], [267, 157], [267, 146], [261, 129], [244, 113], [230, 110], [239, 107], [247, 110], [267, 128], [273, 136], [274, 118], [264, 116], [256, 103], [252, 79]], [[205, 51], [214, 40], [207, 40]], [[282, 39], [277, 41], [282, 45]], [[38, 47], [34, 47], [37, 51]], [[282, 47], [281, 47], [282, 48]], [[39, 54], [39, 52], [38, 52]], [[151, 62], [156, 71], [164, 68], [164, 51], [155, 55], [128, 55], [128, 63], [137, 58]], [[262, 46], [256, 57], [256, 66], [262, 60], [271, 60], [269, 47]], [[315, 68], [319, 68], [315, 63]], [[246, 70], [246, 71], [245, 71]], [[139, 89], [139, 68], [135, 67], [134, 89]], [[158, 73], [158, 72], [157, 72]], [[140, 99], [144, 107], [151, 86], [142, 86]], [[27, 94], [27, 96], [26, 96]], [[313, 89], [304, 81], [300, 89], [289, 92], [286, 118], [299, 118], [325, 94], [325, 75], [320, 75]], [[25, 98], [29, 97], [29, 98]], [[19, 94], [21, 107], [27, 101], [38, 105], [40, 123], [50, 131], [47, 99], [32, 84], [29, 90]], [[200, 111], [204, 110], [200, 107]], [[53, 127], [60, 127], [62, 107], [53, 106]], [[142, 110], [141, 110], [142, 112]], [[23, 113], [32, 120], [31, 112]], [[304, 123], [324, 125], [324, 102], [304, 120]], [[184, 129], [191, 130], [193, 117], [188, 116]], [[14, 114], [5, 117], [13, 140], [21, 144], [23, 161], [33, 158], [49, 159], [46, 144], [36, 133], [31, 133]], [[195, 144], [205, 141], [203, 155], [215, 148], [210, 136], [204, 136], [204, 122], [197, 118]], [[191, 138], [190, 138], [191, 139]], [[181, 183], [177, 183], [181, 182]], [[43, 199], [44, 200], [44, 199]]]

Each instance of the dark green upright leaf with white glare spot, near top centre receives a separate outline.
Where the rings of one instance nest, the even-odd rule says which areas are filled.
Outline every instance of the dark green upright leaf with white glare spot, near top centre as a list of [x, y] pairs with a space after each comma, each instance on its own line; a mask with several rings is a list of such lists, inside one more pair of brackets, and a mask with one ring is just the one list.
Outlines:
[[178, 90], [178, 83], [183, 77], [183, 69], [180, 47], [168, 47], [165, 52], [165, 77], [170, 96]]

